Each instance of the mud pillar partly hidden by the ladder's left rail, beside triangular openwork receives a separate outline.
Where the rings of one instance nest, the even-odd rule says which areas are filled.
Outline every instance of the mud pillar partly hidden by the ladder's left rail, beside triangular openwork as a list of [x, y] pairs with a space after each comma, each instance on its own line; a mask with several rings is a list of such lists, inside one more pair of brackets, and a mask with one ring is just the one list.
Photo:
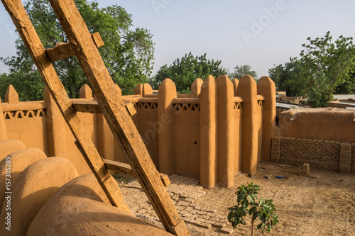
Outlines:
[[65, 120], [47, 86], [43, 92], [47, 106], [48, 157], [66, 157]]

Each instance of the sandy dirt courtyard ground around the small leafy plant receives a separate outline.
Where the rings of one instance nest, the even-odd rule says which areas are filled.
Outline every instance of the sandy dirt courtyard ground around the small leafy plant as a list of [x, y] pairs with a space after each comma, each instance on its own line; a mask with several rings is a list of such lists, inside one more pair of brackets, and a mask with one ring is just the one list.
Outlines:
[[[250, 183], [261, 186], [259, 195], [272, 198], [280, 223], [270, 234], [254, 230], [254, 235], [355, 235], [355, 174], [339, 174], [311, 169], [310, 174], [319, 176], [312, 179], [297, 175], [297, 168], [259, 164], [255, 176], [241, 173], [235, 176], [233, 188], [215, 187], [204, 189], [207, 193], [197, 198], [195, 203], [217, 209], [216, 213], [228, 215], [228, 208], [236, 204], [236, 188]], [[270, 179], [264, 179], [264, 176]], [[275, 176], [283, 175], [285, 179]], [[127, 181], [127, 179], [122, 179]], [[124, 185], [122, 182], [121, 185]], [[148, 204], [143, 191], [121, 188], [132, 212]], [[138, 215], [139, 216], [139, 215]], [[155, 220], [145, 219], [162, 225]], [[226, 235], [212, 230], [187, 224], [191, 235]], [[236, 227], [232, 235], [250, 235], [250, 223]]]

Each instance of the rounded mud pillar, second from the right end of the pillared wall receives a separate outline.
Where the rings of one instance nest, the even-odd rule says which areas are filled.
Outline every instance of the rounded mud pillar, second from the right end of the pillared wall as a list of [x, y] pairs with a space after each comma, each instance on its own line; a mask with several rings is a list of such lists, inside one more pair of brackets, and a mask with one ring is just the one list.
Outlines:
[[255, 174], [258, 162], [258, 100], [255, 80], [249, 75], [241, 77], [237, 95], [244, 99], [241, 171]]

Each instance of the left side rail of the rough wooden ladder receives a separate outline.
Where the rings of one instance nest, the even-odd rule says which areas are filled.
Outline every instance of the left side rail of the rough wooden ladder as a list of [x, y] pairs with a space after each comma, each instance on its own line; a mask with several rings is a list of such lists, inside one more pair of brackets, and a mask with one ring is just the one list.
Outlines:
[[57, 103], [63, 117], [67, 121], [73, 135], [78, 141], [80, 150], [83, 152], [84, 157], [92, 172], [97, 177], [99, 184], [109, 198], [113, 206], [131, 213], [129, 207], [126, 205], [122, 196], [121, 190], [116, 180], [109, 174], [107, 168], [99, 156], [91, 137], [87, 135], [84, 126], [80, 122], [79, 116], [75, 111], [70, 98], [67, 96], [64, 86], [60, 82], [57, 73], [50, 61], [50, 58], [45, 53], [45, 48], [40, 42], [35, 28], [28, 17], [20, 0], [1, 0], [5, 6], [6, 11], [9, 12], [13, 23], [15, 24], [18, 33], [20, 34], [23, 43], [26, 45], [33, 62], [38, 68], [38, 71], [43, 77], [43, 80], [48, 86], [50, 94]]

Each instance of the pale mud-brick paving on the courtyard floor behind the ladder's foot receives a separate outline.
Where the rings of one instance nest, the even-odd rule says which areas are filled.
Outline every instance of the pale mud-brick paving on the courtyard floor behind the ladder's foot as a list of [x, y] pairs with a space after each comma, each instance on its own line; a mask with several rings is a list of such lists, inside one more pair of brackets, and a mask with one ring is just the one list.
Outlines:
[[[225, 215], [216, 214], [217, 209], [199, 206], [195, 203], [197, 198], [206, 193], [203, 191], [203, 187], [200, 186], [198, 179], [176, 174], [169, 176], [169, 179], [171, 184], [166, 189], [173, 199], [176, 210], [178, 210], [181, 218], [184, 219], [186, 223], [207, 229], [214, 228], [214, 230], [216, 230], [216, 228], [218, 228], [219, 232], [226, 234], [233, 232], [232, 228], [227, 225], [228, 221]], [[136, 180], [125, 184], [123, 187], [141, 189], [141, 185]], [[133, 212], [133, 214], [143, 219], [150, 218], [160, 222], [151, 204], [146, 204], [146, 206], [139, 208], [136, 212]]]

